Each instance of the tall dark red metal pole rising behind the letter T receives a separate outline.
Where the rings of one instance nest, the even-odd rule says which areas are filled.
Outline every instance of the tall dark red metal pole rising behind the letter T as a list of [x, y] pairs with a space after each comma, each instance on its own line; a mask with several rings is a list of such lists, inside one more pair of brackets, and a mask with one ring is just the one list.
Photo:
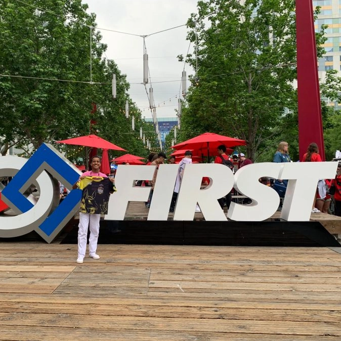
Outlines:
[[310, 143], [325, 160], [312, 0], [296, 0], [300, 160]]

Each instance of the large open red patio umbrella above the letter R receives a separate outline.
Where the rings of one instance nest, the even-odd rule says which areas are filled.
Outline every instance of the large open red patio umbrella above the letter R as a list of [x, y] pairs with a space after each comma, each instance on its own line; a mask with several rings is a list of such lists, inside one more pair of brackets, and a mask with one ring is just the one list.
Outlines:
[[215, 133], [204, 133], [187, 141], [178, 143], [177, 145], [172, 146], [172, 148], [186, 150], [193, 149], [199, 150], [200, 152], [207, 151], [207, 158], [209, 160], [210, 149], [211, 151], [215, 150], [220, 145], [225, 145], [226, 147], [245, 146], [246, 142], [244, 140]]

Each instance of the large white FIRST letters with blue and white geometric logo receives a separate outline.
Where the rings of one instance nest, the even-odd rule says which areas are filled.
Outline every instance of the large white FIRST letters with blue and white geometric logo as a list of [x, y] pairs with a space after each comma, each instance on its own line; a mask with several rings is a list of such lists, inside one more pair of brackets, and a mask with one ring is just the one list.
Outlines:
[[[258, 179], [288, 179], [281, 219], [309, 221], [319, 179], [333, 179], [337, 162], [255, 163], [240, 168], [235, 175], [222, 164], [187, 164], [179, 191], [174, 220], [193, 220], [198, 204], [206, 221], [262, 221], [271, 217], [279, 205], [279, 196]], [[106, 220], [123, 220], [130, 201], [147, 201], [150, 187], [134, 186], [135, 180], [153, 178], [155, 166], [120, 165], [115, 185], [117, 192], [109, 200]], [[148, 212], [148, 220], [167, 220], [177, 178], [177, 164], [160, 165]], [[16, 237], [36, 231], [51, 242], [79, 208], [81, 191], [71, 190], [59, 203], [58, 181], [71, 189], [81, 173], [53, 146], [42, 144], [25, 159], [0, 157], [0, 177], [13, 176], [1, 192], [0, 207], [9, 206], [15, 213], [0, 216], [0, 237]], [[211, 179], [200, 189], [202, 177]], [[27, 194], [34, 185], [40, 196]], [[247, 205], [231, 203], [227, 217], [217, 199], [236, 188], [252, 199]]]

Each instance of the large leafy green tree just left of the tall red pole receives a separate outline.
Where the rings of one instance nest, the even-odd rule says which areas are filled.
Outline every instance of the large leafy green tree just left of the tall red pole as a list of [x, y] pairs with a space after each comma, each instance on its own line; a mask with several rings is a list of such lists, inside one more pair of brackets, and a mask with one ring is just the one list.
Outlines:
[[253, 160], [278, 139], [294, 119], [287, 108], [297, 110], [294, 10], [294, 0], [198, 2], [199, 14], [188, 20], [197, 49], [188, 60], [198, 79], [186, 96], [182, 139], [204, 132], [241, 138]]

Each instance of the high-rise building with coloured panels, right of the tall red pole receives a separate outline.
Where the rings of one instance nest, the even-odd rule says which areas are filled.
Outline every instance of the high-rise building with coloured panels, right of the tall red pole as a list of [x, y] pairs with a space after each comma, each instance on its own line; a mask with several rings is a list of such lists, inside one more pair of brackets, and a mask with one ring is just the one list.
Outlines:
[[[337, 70], [341, 76], [341, 0], [313, 0], [314, 9], [319, 6], [320, 14], [315, 20], [315, 31], [319, 32], [322, 25], [327, 40], [324, 44], [325, 55], [318, 60], [319, 78], [323, 82], [327, 70]], [[328, 105], [339, 108], [336, 102], [324, 99]]]

